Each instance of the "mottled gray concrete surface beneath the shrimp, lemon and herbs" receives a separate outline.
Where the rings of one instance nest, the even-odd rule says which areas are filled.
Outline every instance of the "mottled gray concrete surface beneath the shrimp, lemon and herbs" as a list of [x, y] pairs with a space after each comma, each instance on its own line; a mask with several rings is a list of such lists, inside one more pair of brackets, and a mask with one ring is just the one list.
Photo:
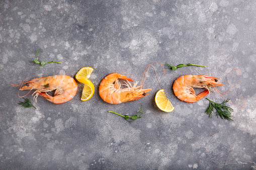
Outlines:
[[[256, 169], [256, 1], [8, 1], [0, 2], [1, 169]], [[41, 69], [32, 62], [60, 61]], [[170, 113], [154, 102], [161, 89], [149, 70], [149, 95], [118, 105], [103, 101], [99, 83], [118, 72], [141, 81], [152, 62], [200, 64], [172, 71], [155, 64], [158, 79], [175, 106]], [[36, 106], [17, 103], [20, 81], [93, 67], [96, 91], [56, 105], [42, 97]], [[220, 78], [224, 97], [239, 108], [233, 120], [208, 118], [208, 100], [180, 101], [172, 85], [186, 74]], [[200, 90], [199, 90], [200, 91]], [[197, 92], [199, 92], [197, 90]], [[28, 91], [27, 91], [28, 92]], [[20, 94], [25, 95], [26, 91]], [[218, 93], [209, 99], [222, 102]], [[108, 110], [142, 118], [127, 122]]]

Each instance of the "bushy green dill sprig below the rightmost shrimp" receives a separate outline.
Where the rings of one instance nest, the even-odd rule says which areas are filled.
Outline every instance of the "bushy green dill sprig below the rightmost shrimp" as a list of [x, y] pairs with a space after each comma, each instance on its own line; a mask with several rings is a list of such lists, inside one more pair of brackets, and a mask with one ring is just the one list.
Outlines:
[[[209, 100], [208, 98], [206, 98], [207, 100]], [[231, 115], [231, 112], [233, 111], [232, 108], [226, 106], [226, 103], [228, 102], [229, 99], [224, 100], [222, 103], [215, 103], [214, 101], [209, 100], [209, 106], [208, 108], [205, 110], [205, 113], [212, 118], [212, 113], [214, 113], [214, 108], [216, 109], [216, 116], [220, 116], [220, 118], [222, 119], [226, 119], [226, 120], [232, 120], [231, 117], [233, 117]], [[233, 120], [232, 120], [233, 121]]]

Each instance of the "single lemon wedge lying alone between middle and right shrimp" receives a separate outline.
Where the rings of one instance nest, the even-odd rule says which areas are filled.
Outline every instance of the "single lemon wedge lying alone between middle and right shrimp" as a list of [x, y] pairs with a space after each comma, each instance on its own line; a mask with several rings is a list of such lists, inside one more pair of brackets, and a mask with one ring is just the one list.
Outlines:
[[165, 112], [171, 112], [174, 110], [174, 106], [170, 103], [169, 99], [167, 99], [163, 89], [159, 90], [155, 94], [155, 104], [160, 110]]

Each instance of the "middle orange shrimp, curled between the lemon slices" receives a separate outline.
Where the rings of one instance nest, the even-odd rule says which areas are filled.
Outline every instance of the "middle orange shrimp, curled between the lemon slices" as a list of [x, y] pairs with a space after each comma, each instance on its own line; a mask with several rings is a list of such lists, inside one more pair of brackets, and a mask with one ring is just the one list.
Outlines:
[[[127, 88], [121, 89], [121, 84], [118, 79], [127, 80]], [[137, 83], [132, 86], [128, 81], [132, 79], [118, 73], [107, 75], [100, 83], [99, 94], [101, 98], [107, 103], [119, 104], [127, 101], [137, 100], [146, 96], [151, 89], [139, 89], [140, 86], [135, 87]], [[115, 83], [115, 84], [113, 84]]]

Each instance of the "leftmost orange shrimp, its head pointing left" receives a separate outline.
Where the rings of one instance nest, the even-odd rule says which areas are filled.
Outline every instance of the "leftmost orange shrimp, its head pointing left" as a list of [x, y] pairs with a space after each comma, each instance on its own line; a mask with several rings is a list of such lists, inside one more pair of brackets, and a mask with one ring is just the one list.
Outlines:
[[[72, 77], [66, 75], [55, 75], [48, 77], [35, 78], [23, 86], [20, 90], [33, 90], [33, 94], [42, 96], [43, 98], [55, 104], [65, 103], [71, 100], [77, 91], [77, 84]], [[47, 92], [53, 91], [54, 95], [51, 96]]]

